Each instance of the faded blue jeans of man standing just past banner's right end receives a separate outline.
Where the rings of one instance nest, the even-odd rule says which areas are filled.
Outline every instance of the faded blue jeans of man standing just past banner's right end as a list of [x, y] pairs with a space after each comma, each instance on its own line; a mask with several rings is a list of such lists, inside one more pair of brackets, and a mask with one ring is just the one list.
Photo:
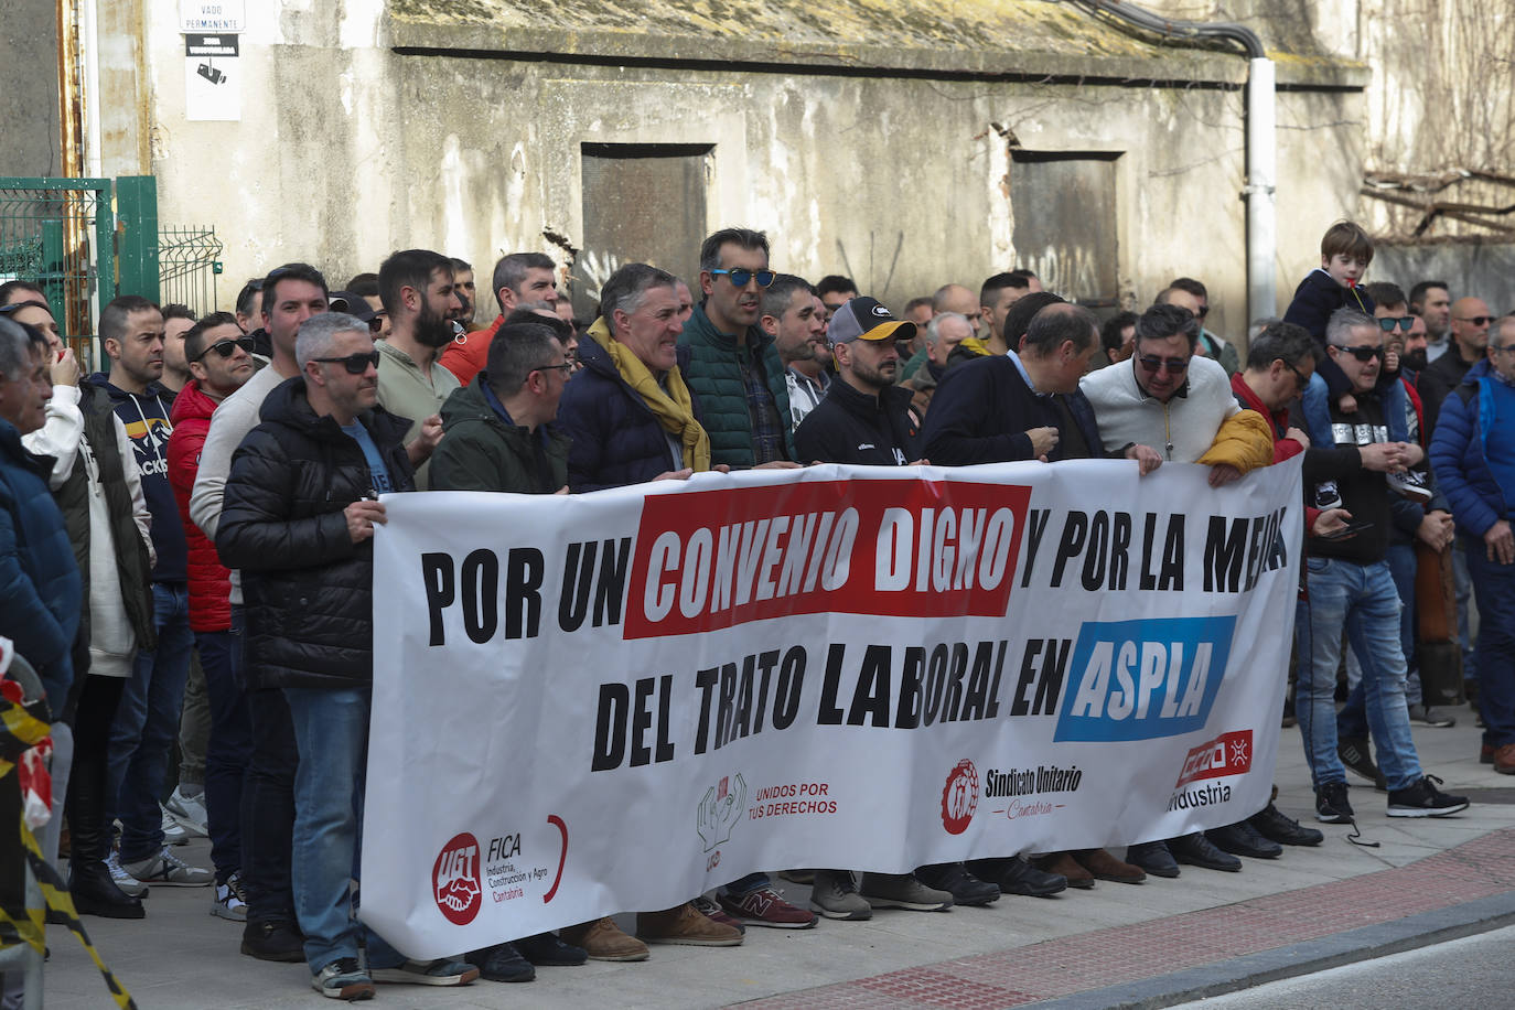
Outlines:
[[1330, 557], [1310, 557], [1309, 600], [1304, 604], [1307, 633], [1301, 631], [1300, 683], [1294, 712], [1304, 740], [1310, 781], [1345, 781], [1347, 769], [1336, 756], [1336, 666], [1341, 660], [1341, 630], [1362, 660], [1364, 701], [1368, 727], [1379, 745], [1379, 769], [1389, 789], [1407, 789], [1421, 778], [1420, 759], [1410, 739], [1404, 704], [1404, 653], [1400, 650], [1400, 597], [1388, 562], [1357, 565]]

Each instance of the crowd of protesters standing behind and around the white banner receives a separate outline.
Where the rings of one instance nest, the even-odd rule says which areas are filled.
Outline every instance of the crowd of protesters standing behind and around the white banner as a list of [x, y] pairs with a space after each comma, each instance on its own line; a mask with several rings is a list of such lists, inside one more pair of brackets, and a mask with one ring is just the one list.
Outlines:
[[[195, 318], [136, 295], [83, 376], [42, 288], [0, 286], [0, 634], [52, 706], [55, 812], [82, 915], [144, 918], [148, 887], [206, 887], [241, 951], [305, 962], [326, 996], [374, 983], [526, 981], [539, 965], [632, 962], [648, 943], [730, 946], [748, 927], [942, 910], [1095, 880], [1236, 872], [1318, 845], [1271, 803], [1236, 824], [1106, 849], [1006, 853], [912, 874], [785, 871], [674, 909], [458, 959], [414, 960], [353, 916], [368, 742], [371, 538], [380, 497], [418, 489], [571, 494], [700, 471], [817, 462], [957, 466], [1109, 457], [1212, 485], [1303, 454], [1297, 713], [1315, 816], [1354, 816], [1345, 772], [1389, 816], [1468, 806], [1418, 763], [1412, 722], [1450, 725], [1417, 678], [1417, 544], [1454, 559], [1485, 724], [1515, 774], [1515, 316], [1427, 280], [1364, 286], [1373, 245], [1338, 223], [1321, 268], [1244, 351], [1176, 279], [1103, 324], [998, 273], [900, 316], [841, 276], [776, 273], [768, 239], [711, 235], [694, 283], [627, 263], [576, 321], [559, 265], [494, 267], [474, 315], [464, 260], [405, 250], [332, 291], [308, 263]], [[1420, 562], [1420, 563], [1424, 563]], [[1338, 684], [1342, 636], [1347, 683]], [[1463, 633], [1465, 634], [1465, 633]], [[1348, 690], [1338, 712], [1338, 690]], [[170, 792], [170, 763], [180, 754]], [[1374, 757], [1376, 754], [1376, 757]], [[174, 845], [211, 840], [211, 866]], [[362, 949], [361, 949], [362, 948]]]

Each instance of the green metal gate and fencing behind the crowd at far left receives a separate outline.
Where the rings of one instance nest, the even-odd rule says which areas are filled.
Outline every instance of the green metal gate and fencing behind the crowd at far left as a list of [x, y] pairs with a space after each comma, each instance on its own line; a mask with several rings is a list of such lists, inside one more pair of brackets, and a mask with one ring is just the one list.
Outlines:
[[214, 312], [221, 248], [215, 229], [159, 227], [152, 176], [0, 177], [0, 283], [45, 291], [86, 366], [102, 363], [100, 309], [117, 294]]

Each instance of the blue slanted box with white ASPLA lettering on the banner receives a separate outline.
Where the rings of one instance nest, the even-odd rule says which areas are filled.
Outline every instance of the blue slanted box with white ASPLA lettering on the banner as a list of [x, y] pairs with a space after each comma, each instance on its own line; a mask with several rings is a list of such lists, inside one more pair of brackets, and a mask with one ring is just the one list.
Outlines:
[[1235, 616], [1085, 622], [1053, 739], [1150, 740], [1204, 728], [1235, 630]]

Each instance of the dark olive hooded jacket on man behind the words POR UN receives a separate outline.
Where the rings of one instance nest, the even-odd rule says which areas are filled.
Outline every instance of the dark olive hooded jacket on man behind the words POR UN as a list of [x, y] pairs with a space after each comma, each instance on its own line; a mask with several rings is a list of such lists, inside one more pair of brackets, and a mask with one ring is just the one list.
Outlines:
[[[551, 426], [536, 432], [506, 424], [474, 376], [442, 404], [444, 438], [432, 453], [432, 491], [553, 494], [568, 483], [568, 436]], [[538, 445], [544, 459], [538, 460]], [[548, 477], [542, 482], [542, 462]]]

